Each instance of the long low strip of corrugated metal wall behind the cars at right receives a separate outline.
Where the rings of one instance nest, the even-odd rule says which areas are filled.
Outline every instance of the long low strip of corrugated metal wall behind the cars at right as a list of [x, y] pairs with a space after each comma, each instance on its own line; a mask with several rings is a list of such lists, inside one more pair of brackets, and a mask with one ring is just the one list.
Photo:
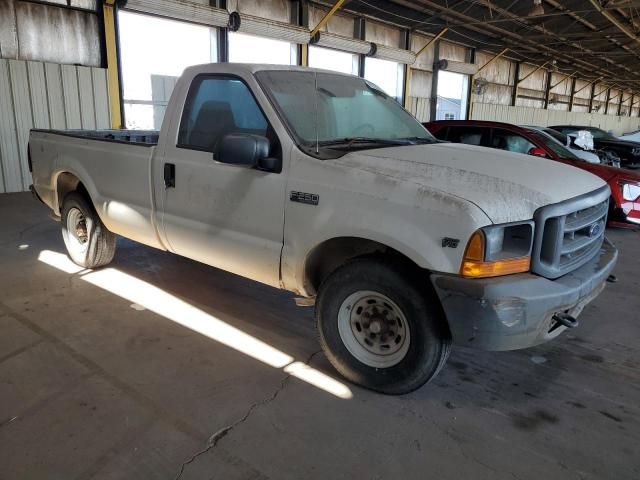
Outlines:
[[516, 125], [586, 125], [612, 130], [614, 135], [622, 135], [640, 129], [640, 118], [618, 117], [599, 113], [578, 113], [541, 108], [511, 107], [489, 103], [474, 103], [473, 120], [491, 120], [514, 123]]

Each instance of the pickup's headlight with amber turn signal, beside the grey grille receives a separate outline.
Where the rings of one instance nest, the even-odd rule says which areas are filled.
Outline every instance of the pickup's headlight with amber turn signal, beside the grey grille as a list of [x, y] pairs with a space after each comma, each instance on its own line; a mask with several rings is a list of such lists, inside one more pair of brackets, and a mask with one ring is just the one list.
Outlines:
[[533, 228], [533, 222], [519, 222], [476, 230], [467, 243], [460, 274], [483, 278], [528, 272]]

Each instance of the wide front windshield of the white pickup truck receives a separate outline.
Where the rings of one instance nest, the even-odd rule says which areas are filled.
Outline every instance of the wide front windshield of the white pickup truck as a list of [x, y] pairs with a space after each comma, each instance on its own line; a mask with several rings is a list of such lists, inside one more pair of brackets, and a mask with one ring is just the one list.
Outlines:
[[256, 76], [300, 146], [362, 149], [436, 141], [394, 99], [362, 78], [282, 70]]

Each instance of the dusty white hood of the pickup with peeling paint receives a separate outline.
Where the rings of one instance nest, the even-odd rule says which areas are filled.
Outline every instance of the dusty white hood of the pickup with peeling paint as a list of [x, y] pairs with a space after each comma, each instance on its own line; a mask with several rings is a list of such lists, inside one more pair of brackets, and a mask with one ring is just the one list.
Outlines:
[[454, 143], [351, 152], [334, 162], [462, 198], [494, 223], [529, 220], [542, 206], [605, 185], [553, 160]]

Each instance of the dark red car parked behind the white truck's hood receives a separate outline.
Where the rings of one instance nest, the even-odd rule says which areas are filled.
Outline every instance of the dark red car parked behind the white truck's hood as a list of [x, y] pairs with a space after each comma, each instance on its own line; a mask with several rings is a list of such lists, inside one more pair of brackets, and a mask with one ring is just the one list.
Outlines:
[[611, 188], [609, 225], [640, 225], [640, 174], [588, 163], [557, 140], [535, 129], [480, 120], [444, 120], [423, 125], [440, 140], [536, 155], [587, 170], [602, 178]]

